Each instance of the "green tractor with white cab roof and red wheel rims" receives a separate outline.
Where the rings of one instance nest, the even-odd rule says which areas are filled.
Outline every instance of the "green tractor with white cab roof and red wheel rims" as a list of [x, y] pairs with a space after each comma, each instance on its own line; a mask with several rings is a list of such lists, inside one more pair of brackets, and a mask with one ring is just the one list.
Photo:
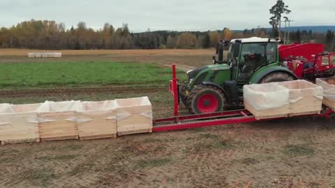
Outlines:
[[[245, 38], [219, 41], [214, 65], [187, 72], [179, 85], [179, 98], [190, 113], [214, 113], [243, 107], [243, 86], [297, 79], [281, 63], [278, 39]], [[228, 48], [223, 61], [223, 49]]]

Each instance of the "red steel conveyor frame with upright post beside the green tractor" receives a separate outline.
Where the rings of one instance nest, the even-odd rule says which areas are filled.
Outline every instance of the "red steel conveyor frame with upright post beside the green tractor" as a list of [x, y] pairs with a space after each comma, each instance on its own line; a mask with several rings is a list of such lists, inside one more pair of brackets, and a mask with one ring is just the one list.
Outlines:
[[[222, 111], [218, 113], [193, 114], [188, 116], [179, 116], [179, 91], [178, 79], [176, 75], [176, 65], [172, 65], [172, 80], [170, 81], [170, 92], [174, 97], [174, 116], [170, 118], [161, 118], [153, 120], [153, 132], [163, 132], [170, 130], [184, 130], [197, 127], [209, 127], [217, 125], [229, 125], [234, 123], [250, 123], [257, 121], [255, 116], [246, 109], [235, 111]], [[315, 117], [330, 118], [334, 113], [328, 107], [324, 108], [323, 113], [314, 114]], [[311, 116], [311, 115], [308, 115]], [[278, 118], [271, 118], [278, 119]], [[270, 120], [270, 119], [268, 119]]]

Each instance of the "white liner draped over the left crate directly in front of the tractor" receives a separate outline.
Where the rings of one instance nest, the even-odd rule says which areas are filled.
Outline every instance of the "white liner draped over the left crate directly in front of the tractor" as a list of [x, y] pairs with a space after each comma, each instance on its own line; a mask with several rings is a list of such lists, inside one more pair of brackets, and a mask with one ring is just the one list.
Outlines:
[[243, 93], [244, 100], [257, 111], [290, 104], [290, 90], [276, 83], [245, 85]]

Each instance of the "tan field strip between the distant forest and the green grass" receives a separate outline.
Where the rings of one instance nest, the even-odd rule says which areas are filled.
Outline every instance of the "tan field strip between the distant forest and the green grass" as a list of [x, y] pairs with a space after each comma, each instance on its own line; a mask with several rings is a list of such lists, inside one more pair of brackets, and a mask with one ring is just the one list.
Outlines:
[[[29, 52], [62, 52], [63, 58], [28, 58]], [[17, 62], [77, 62], [117, 61], [138, 63], [179, 64], [179, 69], [190, 70], [211, 63], [214, 49], [153, 49], [153, 50], [29, 50], [0, 49], [0, 63]]]

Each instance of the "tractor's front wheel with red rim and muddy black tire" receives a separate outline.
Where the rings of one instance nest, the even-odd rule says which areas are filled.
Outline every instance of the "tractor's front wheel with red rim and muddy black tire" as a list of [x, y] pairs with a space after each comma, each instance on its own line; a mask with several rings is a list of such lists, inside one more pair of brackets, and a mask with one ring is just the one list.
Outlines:
[[188, 111], [193, 114], [223, 111], [225, 105], [225, 94], [215, 86], [196, 86], [187, 98]]

